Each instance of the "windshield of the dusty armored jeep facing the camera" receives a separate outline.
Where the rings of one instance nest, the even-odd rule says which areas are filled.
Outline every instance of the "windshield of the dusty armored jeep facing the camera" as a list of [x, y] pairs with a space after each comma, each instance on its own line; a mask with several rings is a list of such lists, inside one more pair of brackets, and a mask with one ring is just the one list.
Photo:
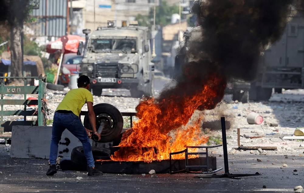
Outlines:
[[95, 52], [136, 52], [136, 39], [92, 39], [91, 44]]

